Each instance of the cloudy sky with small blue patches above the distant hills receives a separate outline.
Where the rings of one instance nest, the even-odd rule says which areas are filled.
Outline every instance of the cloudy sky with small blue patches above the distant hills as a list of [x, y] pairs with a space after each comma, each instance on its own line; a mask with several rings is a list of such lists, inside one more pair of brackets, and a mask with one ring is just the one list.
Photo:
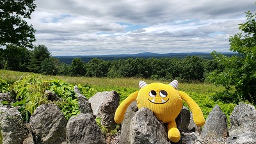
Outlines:
[[52, 56], [230, 52], [254, 1], [36, 0], [35, 45]]

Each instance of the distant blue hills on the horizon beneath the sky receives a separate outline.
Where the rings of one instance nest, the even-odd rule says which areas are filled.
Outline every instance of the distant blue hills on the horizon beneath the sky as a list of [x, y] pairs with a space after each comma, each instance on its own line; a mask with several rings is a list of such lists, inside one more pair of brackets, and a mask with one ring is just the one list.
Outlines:
[[[234, 52], [221, 52], [221, 54], [225, 54], [226, 56], [237, 55]], [[198, 56], [204, 59], [212, 59], [210, 52], [184, 52], [184, 53], [167, 53], [167, 54], [157, 54], [152, 52], [143, 52], [138, 54], [110, 54], [110, 55], [97, 55], [97, 56], [54, 56], [54, 58], [58, 58], [61, 62], [71, 64], [74, 58], [81, 58], [82, 61], [88, 63], [88, 61], [93, 58], [99, 58], [102, 60], [127, 60], [128, 58], [186, 58], [187, 56]]]

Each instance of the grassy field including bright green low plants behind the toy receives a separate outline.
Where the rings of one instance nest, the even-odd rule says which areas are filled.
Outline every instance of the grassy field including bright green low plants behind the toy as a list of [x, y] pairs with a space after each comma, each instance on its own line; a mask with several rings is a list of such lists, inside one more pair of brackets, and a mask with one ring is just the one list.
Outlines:
[[[24, 76], [28, 76], [31, 73], [24, 73], [24, 72], [14, 72], [9, 70], [0, 70], [0, 77], [7, 81], [8, 83], [13, 83], [19, 79], [22, 79]], [[85, 85], [89, 84], [97, 92], [103, 91], [111, 91], [115, 90], [120, 95], [120, 100], [124, 100], [126, 97], [129, 96], [132, 92], [136, 92], [139, 90], [138, 83], [140, 80], [149, 83], [170, 83], [170, 81], [153, 81], [150, 79], [138, 79], [138, 78], [97, 78], [97, 77], [70, 77], [70, 76], [42, 76], [44, 79], [61, 79], [63, 81], [67, 81], [73, 85]], [[209, 83], [179, 83], [179, 90], [188, 93], [188, 95], [196, 101], [198, 106], [202, 109], [205, 118], [209, 115], [212, 108], [218, 104], [227, 116], [233, 111], [234, 106], [236, 104], [225, 104], [220, 101], [214, 101], [211, 99], [212, 95], [216, 92], [221, 92], [223, 87], [221, 86], [214, 86], [214, 84]], [[88, 96], [91, 97], [91, 96]], [[185, 104], [185, 106], [187, 106]], [[188, 107], [188, 106], [187, 106]]]

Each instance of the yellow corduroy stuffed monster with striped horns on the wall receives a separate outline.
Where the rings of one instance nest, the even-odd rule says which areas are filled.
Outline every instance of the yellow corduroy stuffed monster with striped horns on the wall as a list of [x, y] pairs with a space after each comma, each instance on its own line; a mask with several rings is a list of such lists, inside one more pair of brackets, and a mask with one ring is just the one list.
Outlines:
[[168, 138], [170, 141], [180, 140], [180, 132], [177, 129], [175, 118], [182, 109], [184, 100], [193, 113], [193, 120], [197, 126], [205, 123], [203, 113], [196, 102], [184, 92], [178, 91], [178, 81], [174, 80], [170, 84], [152, 83], [144, 81], [139, 83], [140, 90], [132, 93], [116, 109], [115, 122], [122, 123], [125, 111], [134, 100], [137, 101], [138, 109], [151, 109], [158, 120], [167, 123]]

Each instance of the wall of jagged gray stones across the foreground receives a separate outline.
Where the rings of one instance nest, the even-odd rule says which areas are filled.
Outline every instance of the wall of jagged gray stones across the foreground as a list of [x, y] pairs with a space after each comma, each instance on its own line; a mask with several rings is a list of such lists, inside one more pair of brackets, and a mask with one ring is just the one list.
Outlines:
[[[43, 104], [36, 108], [29, 124], [22, 122], [22, 116], [17, 108], [0, 106], [0, 142], [4, 144], [172, 143], [167, 138], [166, 125], [157, 120], [150, 109], [138, 110], [136, 102], [132, 102], [127, 109], [120, 131], [116, 134], [115, 140], [111, 140], [114, 137], [104, 136], [95, 118], [101, 118], [103, 126], [115, 127], [113, 116], [119, 104], [118, 93], [115, 91], [97, 93], [88, 100], [81, 95], [76, 86], [74, 89], [78, 95], [81, 114], [68, 121], [54, 104]], [[1, 95], [4, 95], [3, 99], [9, 99], [8, 93], [0, 93], [0, 99]], [[234, 108], [230, 115], [229, 129], [227, 116], [218, 105], [209, 113], [204, 129], [196, 127], [186, 107], [182, 108], [175, 121], [181, 134], [177, 143], [256, 143], [256, 110], [250, 104], [240, 103]]]

